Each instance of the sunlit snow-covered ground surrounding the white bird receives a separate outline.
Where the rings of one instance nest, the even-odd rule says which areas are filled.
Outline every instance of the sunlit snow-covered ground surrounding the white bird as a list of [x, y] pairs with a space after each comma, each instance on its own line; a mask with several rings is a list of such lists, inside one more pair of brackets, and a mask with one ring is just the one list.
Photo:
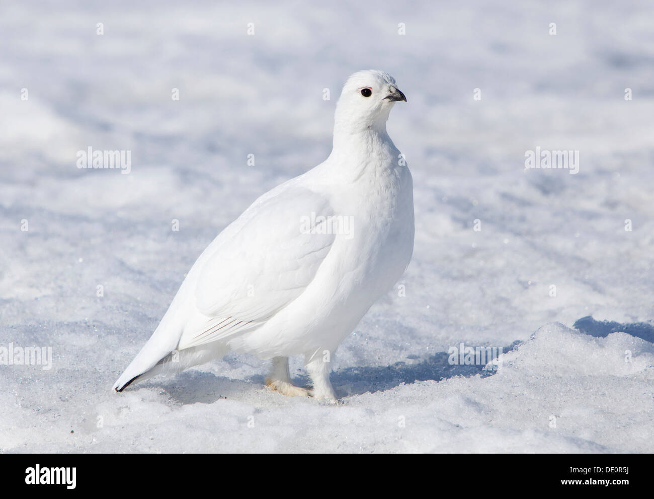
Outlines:
[[[0, 452], [653, 452], [653, 22], [642, 1], [3, 3], [0, 347], [54, 358], [0, 365]], [[112, 393], [215, 235], [326, 158], [369, 68], [408, 99], [388, 131], [415, 251], [339, 348], [343, 404], [268, 392], [246, 355]], [[78, 169], [89, 146], [131, 173]], [[525, 170], [536, 146], [579, 173]], [[449, 365], [461, 342], [511, 350], [489, 375]]]

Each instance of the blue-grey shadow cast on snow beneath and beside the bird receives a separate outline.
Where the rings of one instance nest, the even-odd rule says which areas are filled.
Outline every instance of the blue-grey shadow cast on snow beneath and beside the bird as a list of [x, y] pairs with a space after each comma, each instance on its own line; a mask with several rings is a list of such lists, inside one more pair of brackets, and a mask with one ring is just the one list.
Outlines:
[[[502, 348], [504, 354], [515, 348], [519, 341]], [[334, 371], [330, 377], [336, 395], [349, 397], [365, 393], [383, 392], [400, 384], [416, 381], [440, 381], [457, 376], [492, 376], [496, 371], [485, 369], [483, 364], [456, 365], [449, 363], [449, 354], [439, 352], [415, 363], [396, 362], [393, 365], [376, 367], [346, 367]], [[298, 386], [308, 386], [309, 377], [293, 380]], [[213, 403], [218, 399], [242, 399], [243, 393], [252, 388], [263, 388], [264, 376], [250, 376], [245, 380], [235, 380], [216, 376], [202, 371], [185, 371], [174, 379], [163, 383], [163, 390], [175, 403]]]

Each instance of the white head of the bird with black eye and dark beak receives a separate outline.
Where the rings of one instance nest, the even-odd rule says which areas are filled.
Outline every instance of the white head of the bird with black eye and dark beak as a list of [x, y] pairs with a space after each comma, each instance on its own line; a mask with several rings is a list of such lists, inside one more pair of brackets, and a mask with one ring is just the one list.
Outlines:
[[376, 69], [358, 71], [347, 79], [336, 104], [336, 128], [385, 130], [388, 113], [400, 100], [407, 98], [391, 75]]

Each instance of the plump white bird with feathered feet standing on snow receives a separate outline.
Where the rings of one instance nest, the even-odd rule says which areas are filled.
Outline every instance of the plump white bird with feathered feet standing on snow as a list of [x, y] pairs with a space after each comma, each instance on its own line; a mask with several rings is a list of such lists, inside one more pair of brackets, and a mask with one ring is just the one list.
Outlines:
[[[322, 163], [256, 199], [201, 253], [152, 337], [116, 380], [178, 373], [247, 352], [272, 360], [269, 389], [338, 403], [337, 346], [400, 280], [413, 254], [413, 179], [386, 129], [396, 80], [351, 75]], [[292, 383], [304, 356], [309, 387]]]

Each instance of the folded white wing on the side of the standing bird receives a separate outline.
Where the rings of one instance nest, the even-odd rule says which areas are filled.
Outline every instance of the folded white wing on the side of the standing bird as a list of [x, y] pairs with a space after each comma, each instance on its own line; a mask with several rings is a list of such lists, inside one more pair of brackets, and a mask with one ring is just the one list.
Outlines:
[[[255, 202], [245, 223], [200, 268], [195, 321], [178, 348], [226, 339], [258, 327], [294, 301], [313, 280], [336, 237], [328, 230], [334, 215], [328, 198], [292, 187]], [[251, 212], [254, 210], [254, 213]]]

